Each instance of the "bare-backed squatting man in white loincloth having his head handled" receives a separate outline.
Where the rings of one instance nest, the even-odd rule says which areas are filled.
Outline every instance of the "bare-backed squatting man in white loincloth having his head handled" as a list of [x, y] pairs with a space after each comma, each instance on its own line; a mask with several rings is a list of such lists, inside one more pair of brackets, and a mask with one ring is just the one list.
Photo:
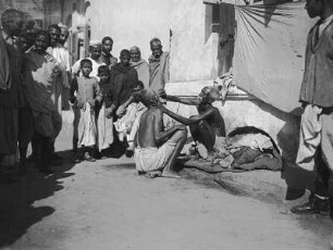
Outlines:
[[136, 168], [148, 177], [178, 177], [173, 172], [173, 165], [186, 141], [186, 128], [176, 125], [168, 130], [162, 129], [163, 112], [152, 91], [147, 90], [141, 101], [148, 110], [140, 116], [136, 135]]

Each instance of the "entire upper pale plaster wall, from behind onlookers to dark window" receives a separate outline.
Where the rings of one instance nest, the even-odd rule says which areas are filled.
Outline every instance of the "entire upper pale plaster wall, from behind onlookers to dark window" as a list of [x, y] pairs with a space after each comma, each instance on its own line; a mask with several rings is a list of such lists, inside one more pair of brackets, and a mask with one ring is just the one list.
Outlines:
[[206, 13], [200, 0], [91, 0], [86, 18], [91, 39], [113, 38], [114, 57], [135, 45], [147, 60], [149, 40], [159, 37], [171, 51], [171, 80], [180, 82], [217, 76], [218, 34], [206, 38]]

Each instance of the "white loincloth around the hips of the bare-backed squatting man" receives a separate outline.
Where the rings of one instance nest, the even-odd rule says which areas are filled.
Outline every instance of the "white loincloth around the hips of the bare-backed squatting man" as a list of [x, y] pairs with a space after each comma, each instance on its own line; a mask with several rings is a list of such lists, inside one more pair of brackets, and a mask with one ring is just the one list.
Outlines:
[[175, 143], [166, 141], [160, 148], [136, 148], [134, 153], [135, 166], [138, 172], [163, 170], [175, 150]]

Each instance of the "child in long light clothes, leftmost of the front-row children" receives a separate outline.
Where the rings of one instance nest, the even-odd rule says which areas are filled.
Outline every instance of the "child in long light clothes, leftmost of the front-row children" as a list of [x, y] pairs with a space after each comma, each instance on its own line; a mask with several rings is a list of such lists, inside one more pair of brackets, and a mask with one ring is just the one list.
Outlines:
[[95, 107], [102, 97], [97, 79], [89, 76], [92, 62], [89, 59], [83, 59], [79, 65], [82, 76], [73, 79], [70, 99], [74, 103], [74, 145], [82, 146], [84, 160], [95, 162], [92, 157], [97, 142]]

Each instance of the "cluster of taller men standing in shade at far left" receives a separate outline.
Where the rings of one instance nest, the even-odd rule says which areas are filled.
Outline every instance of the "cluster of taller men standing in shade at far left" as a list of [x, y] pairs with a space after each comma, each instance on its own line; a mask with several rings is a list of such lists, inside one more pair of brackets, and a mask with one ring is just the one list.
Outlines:
[[54, 141], [70, 88], [70, 57], [59, 43], [66, 40], [69, 30], [51, 25], [30, 41], [26, 32], [33, 27], [27, 27], [26, 16], [18, 10], [1, 15], [0, 162], [15, 154], [18, 146], [23, 173], [27, 146], [33, 140], [34, 153], [41, 155], [39, 170], [49, 172], [46, 162], [59, 159]]

